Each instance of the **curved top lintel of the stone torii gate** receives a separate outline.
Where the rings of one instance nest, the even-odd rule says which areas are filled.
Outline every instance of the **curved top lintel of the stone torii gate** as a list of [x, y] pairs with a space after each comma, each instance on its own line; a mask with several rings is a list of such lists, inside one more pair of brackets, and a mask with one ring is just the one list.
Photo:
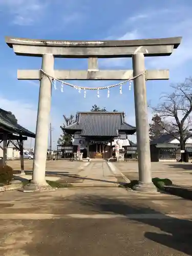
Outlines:
[[53, 54], [55, 57], [68, 58], [114, 58], [131, 57], [141, 52], [145, 56], [168, 56], [181, 42], [182, 37], [168, 37], [137, 40], [99, 40], [67, 41], [14, 38], [6, 36], [6, 43], [15, 54], [24, 56], [42, 56]]

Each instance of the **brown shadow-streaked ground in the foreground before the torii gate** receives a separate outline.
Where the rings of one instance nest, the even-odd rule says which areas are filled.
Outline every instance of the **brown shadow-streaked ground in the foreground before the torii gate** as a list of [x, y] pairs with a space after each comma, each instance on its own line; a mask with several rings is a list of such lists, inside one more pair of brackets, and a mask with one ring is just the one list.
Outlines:
[[2, 193], [0, 255], [192, 255], [191, 206], [119, 187]]

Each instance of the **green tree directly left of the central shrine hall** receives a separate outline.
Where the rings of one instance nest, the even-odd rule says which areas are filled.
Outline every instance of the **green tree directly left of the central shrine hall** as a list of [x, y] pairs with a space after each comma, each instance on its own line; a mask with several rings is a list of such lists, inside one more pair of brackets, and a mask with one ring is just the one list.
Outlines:
[[68, 125], [71, 125], [71, 124], [73, 124], [75, 122], [73, 115], [70, 115], [70, 117], [66, 117], [65, 115], [63, 115], [63, 118], [65, 119], [66, 123], [63, 123], [60, 126], [60, 129], [62, 130], [62, 133], [60, 135], [60, 138], [57, 141], [58, 145], [61, 145], [61, 146], [62, 145], [70, 145], [71, 144], [73, 136], [71, 134], [67, 134], [65, 132], [65, 127], [68, 126]]

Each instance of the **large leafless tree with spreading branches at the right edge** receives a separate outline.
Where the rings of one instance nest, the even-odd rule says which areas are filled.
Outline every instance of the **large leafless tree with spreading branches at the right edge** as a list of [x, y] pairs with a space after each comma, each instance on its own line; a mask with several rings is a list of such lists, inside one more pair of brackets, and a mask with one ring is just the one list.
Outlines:
[[188, 132], [192, 112], [192, 78], [186, 78], [183, 83], [172, 84], [173, 92], [164, 94], [157, 106], [150, 106], [154, 113], [163, 121], [163, 129], [180, 142], [181, 150], [185, 150], [186, 140], [191, 137]]

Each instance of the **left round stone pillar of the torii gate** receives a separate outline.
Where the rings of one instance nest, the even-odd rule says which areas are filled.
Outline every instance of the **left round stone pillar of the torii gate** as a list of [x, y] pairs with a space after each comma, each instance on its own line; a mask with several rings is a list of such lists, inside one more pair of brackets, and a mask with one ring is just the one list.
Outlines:
[[[44, 54], [42, 56], [42, 70], [50, 75], [54, 75], [54, 56], [52, 54]], [[31, 181], [31, 185], [34, 190], [43, 189], [48, 186], [45, 180], [45, 174], [51, 110], [51, 83], [51, 79], [41, 73], [36, 124], [35, 156], [33, 162], [33, 177]]]

